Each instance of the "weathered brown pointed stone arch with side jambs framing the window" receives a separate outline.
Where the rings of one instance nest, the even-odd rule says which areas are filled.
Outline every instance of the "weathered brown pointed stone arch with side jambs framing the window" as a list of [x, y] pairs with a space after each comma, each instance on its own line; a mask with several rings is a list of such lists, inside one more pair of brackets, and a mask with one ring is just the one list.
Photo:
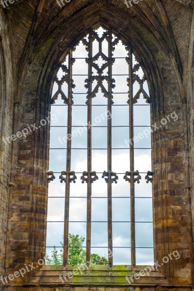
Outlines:
[[[67, 16], [64, 23], [54, 27], [48, 35], [45, 35], [45, 32], [42, 39], [40, 37], [34, 44], [32, 54], [29, 54], [28, 62], [23, 66], [22, 78], [19, 81], [21, 84], [18, 92], [20, 99], [19, 127], [24, 128], [26, 124], [38, 123], [48, 116], [53, 76], [56, 74], [66, 50], [91, 26], [98, 25], [112, 27], [113, 31], [120, 35], [124, 41], [129, 41], [139, 58], [140, 65], [149, 76], [152, 124], [160, 124], [160, 120], [166, 114], [170, 114], [176, 109], [179, 114], [178, 126], [181, 126], [181, 103], [179, 102], [182, 98], [181, 78], [178, 69], [174, 66], [171, 54], [164, 49], [165, 42], [162, 45], [161, 39], [157, 40], [155, 35], [151, 32], [148, 33], [143, 26], [141, 27], [135, 17], [129, 18], [126, 12], [121, 14], [121, 10], [115, 7], [112, 11], [110, 9], [109, 11], [103, 10], [98, 6], [92, 7], [94, 7], [92, 13], [90, 13], [90, 6], [90, 8], [85, 7], [84, 11], [80, 9], [74, 15]], [[168, 140], [166, 139], [166, 130]], [[181, 162], [178, 160], [178, 154], [181, 154], [181, 150], [177, 149], [177, 156], [173, 156], [170, 146], [174, 143], [178, 133], [174, 134], [169, 129], [166, 130], [159, 129], [153, 134], [155, 261], [162, 261], [163, 256], [173, 251], [171, 243], [173, 234], [169, 232], [171, 226], [166, 222], [167, 218], [170, 219], [170, 215], [168, 210], [164, 208], [167, 200], [170, 200], [168, 196], [173, 196], [174, 193], [172, 189], [175, 185], [171, 180], [173, 159], [178, 163], [177, 168], [180, 174], [183, 171]], [[184, 139], [184, 137], [181, 138]], [[10, 256], [15, 257], [15, 245], [19, 245], [25, 254], [18, 255], [17, 259], [14, 259], [10, 264], [10, 268], [19, 267], [20, 263], [24, 262], [37, 262], [45, 255], [49, 125], [32, 132], [26, 139], [20, 140], [18, 154], [16, 176], [19, 177], [19, 182], [14, 193], [16, 199], [14, 215], [22, 214], [19, 218], [21, 223], [19, 228], [14, 229], [11, 233]], [[22, 176], [20, 173], [24, 173], [24, 175]], [[179, 179], [176, 187], [177, 185], [179, 199], [181, 199], [184, 196], [183, 179]], [[25, 197], [21, 195], [22, 191], [25, 192]], [[169, 203], [172, 204], [172, 207], [176, 206], [176, 201], [174, 202], [173, 198]], [[176, 212], [176, 207], [173, 210]], [[12, 219], [13, 217], [10, 223], [14, 221]], [[23, 223], [24, 221], [27, 222], [28, 229]], [[173, 229], [171, 230], [173, 232]], [[167, 278], [170, 277], [169, 264], [165, 264], [161, 268], [162, 274]], [[28, 274], [27, 282], [31, 281], [32, 275], [32, 273]]]

